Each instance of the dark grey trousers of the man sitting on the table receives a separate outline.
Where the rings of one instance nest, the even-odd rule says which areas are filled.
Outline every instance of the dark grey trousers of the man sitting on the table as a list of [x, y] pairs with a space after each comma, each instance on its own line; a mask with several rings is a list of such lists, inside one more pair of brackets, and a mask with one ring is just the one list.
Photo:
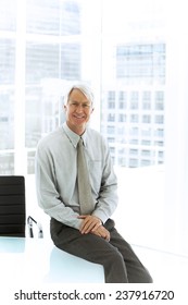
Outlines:
[[151, 283], [152, 278], [140, 263], [130, 245], [118, 234], [114, 221], [109, 219], [104, 227], [111, 240], [95, 234], [80, 234], [74, 228], [51, 219], [51, 237], [57, 247], [103, 266], [106, 283]]

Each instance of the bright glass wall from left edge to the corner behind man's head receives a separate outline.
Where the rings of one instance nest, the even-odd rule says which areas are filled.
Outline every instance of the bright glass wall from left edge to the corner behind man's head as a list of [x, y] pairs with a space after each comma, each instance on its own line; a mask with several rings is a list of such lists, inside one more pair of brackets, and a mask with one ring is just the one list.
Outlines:
[[0, 0], [0, 173], [28, 174], [39, 138], [63, 120], [68, 82], [98, 82], [100, 2]]

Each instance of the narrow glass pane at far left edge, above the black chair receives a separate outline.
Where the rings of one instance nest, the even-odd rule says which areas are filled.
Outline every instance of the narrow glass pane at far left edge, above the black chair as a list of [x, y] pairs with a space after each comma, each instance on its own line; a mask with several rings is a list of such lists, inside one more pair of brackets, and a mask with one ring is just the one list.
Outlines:
[[[0, 1], [0, 174], [14, 172], [15, 1]], [[8, 19], [9, 16], [9, 19]]]

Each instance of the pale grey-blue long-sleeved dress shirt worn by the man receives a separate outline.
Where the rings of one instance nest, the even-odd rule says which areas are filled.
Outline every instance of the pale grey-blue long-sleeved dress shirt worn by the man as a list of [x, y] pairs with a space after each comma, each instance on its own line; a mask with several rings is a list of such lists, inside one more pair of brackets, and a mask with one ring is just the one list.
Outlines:
[[[82, 136], [93, 196], [92, 215], [104, 223], [117, 205], [117, 182], [106, 142], [87, 127]], [[67, 124], [40, 139], [36, 152], [36, 190], [39, 206], [58, 221], [79, 229], [77, 143]]]

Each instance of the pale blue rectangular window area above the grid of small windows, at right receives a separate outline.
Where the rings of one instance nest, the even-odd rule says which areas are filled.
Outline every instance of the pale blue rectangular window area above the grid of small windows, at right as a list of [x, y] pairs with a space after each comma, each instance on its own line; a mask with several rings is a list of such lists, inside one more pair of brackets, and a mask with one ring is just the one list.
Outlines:
[[116, 48], [120, 78], [145, 78], [147, 82], [164, 83], [165, 77], [165, 45], [133, 44], [120, 45]]

